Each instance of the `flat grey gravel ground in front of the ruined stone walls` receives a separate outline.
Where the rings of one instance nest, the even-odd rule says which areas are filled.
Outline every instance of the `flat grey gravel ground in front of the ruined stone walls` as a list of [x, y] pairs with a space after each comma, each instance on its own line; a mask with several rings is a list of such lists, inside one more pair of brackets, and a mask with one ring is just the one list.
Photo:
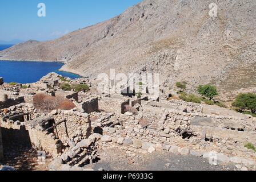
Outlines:
[[174, 155], [169, 152], [157, 151], [154, 154], [127, 156], [125, 151], [118, 149], [102, 150], [101, 160], [93, 169], [106, 171], [231, 171], [233, 166], [211, 166], [207, 159], [196, 156]]

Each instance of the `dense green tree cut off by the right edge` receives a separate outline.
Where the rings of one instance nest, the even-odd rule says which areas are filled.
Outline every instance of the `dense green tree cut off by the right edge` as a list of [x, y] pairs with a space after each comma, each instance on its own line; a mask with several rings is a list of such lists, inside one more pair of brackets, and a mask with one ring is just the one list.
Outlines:
[[252, 113], [256, 112], [256, 94], [255, 93], [243, 93], [239, 94], [232, 106], [238, 107], [240, 110], [251, 110]]

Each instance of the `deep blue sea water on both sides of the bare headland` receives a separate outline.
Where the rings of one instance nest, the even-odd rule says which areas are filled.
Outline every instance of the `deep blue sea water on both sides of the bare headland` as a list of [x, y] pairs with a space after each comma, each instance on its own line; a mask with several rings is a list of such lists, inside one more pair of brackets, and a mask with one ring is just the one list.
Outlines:
[[[0, 50], [9, 47], [11, 45], [0, 45]], [[55, 72], [63, 77], [73, 79], [80, 77], [73, 73], [59, 71], [63, 65], [63, 63], [57, 62], [0, 61], [0, 77], [3, 77], [5, 82], [18, 82], [20, 84], [37, 82], [50, 72]]]

